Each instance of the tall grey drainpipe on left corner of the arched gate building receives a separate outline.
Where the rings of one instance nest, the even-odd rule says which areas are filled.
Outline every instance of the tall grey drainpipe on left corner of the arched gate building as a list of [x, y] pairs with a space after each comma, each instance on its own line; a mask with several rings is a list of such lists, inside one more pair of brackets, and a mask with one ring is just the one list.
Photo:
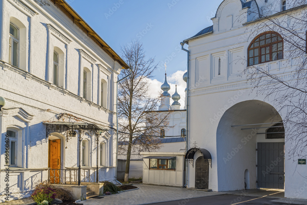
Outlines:
[[[188, 144], [189, 144], [189, 140], [188, 140], [188, 122], [189, 122], [189, 62], [190, 62], [190, 51], [183, 48], [183, 46], [185, 45], [185, 42], [181, 42], [181, 50], [184, 50], [185, 52], [187, 52], [188, 54], [188, 63], [187, 63], [187, 106], [186, 106], [186, 110], [187, 110], [187, 118], [186, 118], [186, 133], [185, 133], [185, 137], [186, 137], [186, 146], [185, 146], [185, 153], [188, 152]], [[186, 163], [186, 167], [185, 167], [185, 187], [188, 186], [188, 163]]]

